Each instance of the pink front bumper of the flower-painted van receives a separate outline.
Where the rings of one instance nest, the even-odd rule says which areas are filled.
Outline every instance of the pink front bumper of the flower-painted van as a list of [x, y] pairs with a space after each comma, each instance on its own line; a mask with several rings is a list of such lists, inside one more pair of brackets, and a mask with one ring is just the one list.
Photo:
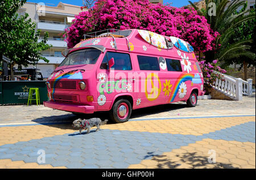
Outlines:
[[60, 102], [44, 101], [44, 106], [52, 109], [64, 110], [66, 112], [76, 112], [92, 114], [94, 113], [94, 106], [65, 104]]

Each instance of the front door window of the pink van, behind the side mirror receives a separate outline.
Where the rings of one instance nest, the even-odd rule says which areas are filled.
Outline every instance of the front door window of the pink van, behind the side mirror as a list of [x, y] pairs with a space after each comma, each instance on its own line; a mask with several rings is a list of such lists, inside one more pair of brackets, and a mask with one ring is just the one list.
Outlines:
[[108, 69], [108, 61], [114, 58], [114, 70], [131, 70], [131, 58], [129, 54], [107, 52], [102, 60], [101, 69]]

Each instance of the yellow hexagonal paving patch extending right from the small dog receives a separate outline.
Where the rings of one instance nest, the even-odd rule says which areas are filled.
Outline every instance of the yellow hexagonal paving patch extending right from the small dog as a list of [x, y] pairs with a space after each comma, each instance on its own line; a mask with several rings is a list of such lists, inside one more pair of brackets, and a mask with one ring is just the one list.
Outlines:
[[102, 126], [111, 130], [140, 132], [160, 132], [183, 135], [203, 135], [245, 122], [255, 122], [255, 117], [223, 117], [199, 119], [164, 119], [146, 121], [128, 121], [126, 123]]

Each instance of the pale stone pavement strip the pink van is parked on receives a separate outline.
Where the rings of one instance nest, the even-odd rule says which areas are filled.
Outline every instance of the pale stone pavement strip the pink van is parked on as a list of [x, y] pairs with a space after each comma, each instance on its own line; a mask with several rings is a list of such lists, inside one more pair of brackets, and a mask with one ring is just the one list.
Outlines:
[[[43, 105], [13, 105], [0, 106], [0, 125], [6, 123], [46, 123], [46, 122], [72, 122], [75, 115], [69, 112], [53, 110]], [[187, 108], [185, 102], [152, 106], [133, 110], [134, 118], [165, 118], [165, 117], [192, 117], [210, 115], [255, 114], [255, 92], [252, 96], [243, 96], [242, 101], [225, 100], [198, 100], [195, 108]], [[102, 117], [108, 114], [85, 115], [85, 117]], [[105, 118], [105, 116], [104, 116]]]

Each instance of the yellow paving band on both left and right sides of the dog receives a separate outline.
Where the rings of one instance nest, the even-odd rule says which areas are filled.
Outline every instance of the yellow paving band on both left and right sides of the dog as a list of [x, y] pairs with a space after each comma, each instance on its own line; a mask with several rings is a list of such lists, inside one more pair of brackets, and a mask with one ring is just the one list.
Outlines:
[[[255, 122], [255, 117], [224, 117], [199, 119], [164, 119], [147, 121], [128, 121], [101, 126], [102, 129], [139, 132], [160, 132], [182, 135], [203, 135], [245, 122]], [[14, 144], [19, 141], [41, 139], [55, 135], [73, 133], [72, 124], [34, 125], [0, 127], [0, 145]], [[94, 127], [95, 128], [95, 127]]]

